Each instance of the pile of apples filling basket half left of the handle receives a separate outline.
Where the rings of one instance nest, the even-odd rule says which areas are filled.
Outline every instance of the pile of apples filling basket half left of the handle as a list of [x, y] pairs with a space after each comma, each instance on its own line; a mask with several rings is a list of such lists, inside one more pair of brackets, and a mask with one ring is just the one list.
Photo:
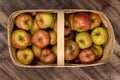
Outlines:
[[56, 62], [57, 14], [38, 12], [22, 13], [14, 21], [11, 42], [16, 48], [16, 57], [22, 64]]

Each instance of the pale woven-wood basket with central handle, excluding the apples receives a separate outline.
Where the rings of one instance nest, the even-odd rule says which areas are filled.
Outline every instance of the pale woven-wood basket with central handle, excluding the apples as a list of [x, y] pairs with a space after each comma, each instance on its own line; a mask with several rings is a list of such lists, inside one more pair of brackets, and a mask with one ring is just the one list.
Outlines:
[[[56, 13], [57, 14], [57, 21], [58, 21], [58, 28], [57, 28], [57, 62], [55, 64], [49, 64], [49, 65], [44, 65], [41, 63], [37, 63], [35, 65], [24, 65], [21, 64], [17, 58], [16, 58], [16, 49], [12, 46], [11, 43], [11, 33], [13, 31], [14, 25], [15, 25], [15, 18], [21, 14], [21, 13], [31, 13], [33, 15], [36, 14], [36, 12], [50, 12], [50, 13]], [[66, 13], [77, 13], [77, 12], [93, 12], [97, 13], [101, 19], [103, 25], [106, 27], [107, 32], [108, 32], [108, 41], [104, 45], [104, 51], [103, 51], [103, 56], [99, 61], [96, 61], [92, 64], [67, 64], [64, 61], [64, 16]], [[103, 14], [102, 12], [99, 11], [94, 11], [94, 10], [72, 10], [72, 9], [65, 9], [65, 10], [20, 10], [13, 12], [9, 19], [8, 19], [8, 46], [9, 46], [9, 54], [14, 62], [15, 65], [19, 67], [26, 67], [26, 68], [44, 68], [44, 67], [87, 67], [87, 66], [95, 66], [95, 65], [101, 65], [105, 64], [109, 61], [109, 59], [113, 55], [114, 51], [114, 46], [115, 46], [115, 36], [114, 36], [114, 31], [112, 28], [112, 25], [108, 18]]]

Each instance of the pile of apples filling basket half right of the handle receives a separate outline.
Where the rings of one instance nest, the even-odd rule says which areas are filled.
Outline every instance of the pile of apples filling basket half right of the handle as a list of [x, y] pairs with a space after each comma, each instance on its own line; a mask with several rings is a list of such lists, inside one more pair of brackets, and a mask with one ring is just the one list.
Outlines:
[[90, 64], [101, 59], [108, 32], [98, 14], [66, 13], [64, 24], [66, 63]]

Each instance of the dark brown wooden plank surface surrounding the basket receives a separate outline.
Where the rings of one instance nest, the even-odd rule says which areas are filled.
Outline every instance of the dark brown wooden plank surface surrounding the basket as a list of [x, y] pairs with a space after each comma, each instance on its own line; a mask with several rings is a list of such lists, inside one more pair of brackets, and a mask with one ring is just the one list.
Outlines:
[[[92, 9], [107, 15], [115, 32], [109, 63], [85, 68], [26, 69], [13, 64], [8, 51], [7, 20], [24, 9]], [[0, 0], [0, 80], [120, 80], [120, 0]]]

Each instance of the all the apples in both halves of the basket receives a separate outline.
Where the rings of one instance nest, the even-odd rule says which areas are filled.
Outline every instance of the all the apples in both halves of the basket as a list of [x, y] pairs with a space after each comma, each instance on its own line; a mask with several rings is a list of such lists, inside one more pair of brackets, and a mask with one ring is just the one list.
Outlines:
[[[11, 42], [20, 63], [56, 63], [56, 13], [22, 13], [16, 17], [14, 23]], [[64, 31], [66, 63], [90, 64], [101, 59], [108, 32], [98, 14], [66, 13]]]

